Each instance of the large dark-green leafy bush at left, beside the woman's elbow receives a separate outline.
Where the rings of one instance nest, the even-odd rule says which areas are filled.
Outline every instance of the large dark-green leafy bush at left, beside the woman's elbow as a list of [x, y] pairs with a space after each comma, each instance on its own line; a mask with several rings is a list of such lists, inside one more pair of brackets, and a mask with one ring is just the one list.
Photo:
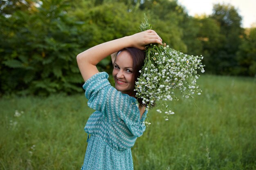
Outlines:
[[81, 91], [76, 66], [79, 24], [62, 0], [41, 1], [33, 13], [17, 10], [1, 16], [1, 91], [48, 95]]

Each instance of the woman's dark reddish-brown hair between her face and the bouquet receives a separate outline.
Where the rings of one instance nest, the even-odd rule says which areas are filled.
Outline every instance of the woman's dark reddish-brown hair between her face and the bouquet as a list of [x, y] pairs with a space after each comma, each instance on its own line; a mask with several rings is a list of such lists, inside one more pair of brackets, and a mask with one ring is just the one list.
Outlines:
[[[144, 51], [134, 48], [134, 47], [124, 48], [121, 51], [128, 51], [130, 53], [130, 55], [132, 56], [132, 68], [133, 68], [132, 83], [134, 84], [134, 87], [135, 87], [135, 82], [137, 81], [137, 78], [139, 78], [139, 76], [140, 76], [139, 71], [144, 66], [144, 60], [146, 58], [146, 53]], [[118, 55], [118, 53], [117, 53], [117, 55]], [[133, 91], [133, 92], [136, 93], [136, 91]], [[146, 104], [142, 104], [141, 98], [138, 98], [137, 100], [141, 106], [146, 106]]]

